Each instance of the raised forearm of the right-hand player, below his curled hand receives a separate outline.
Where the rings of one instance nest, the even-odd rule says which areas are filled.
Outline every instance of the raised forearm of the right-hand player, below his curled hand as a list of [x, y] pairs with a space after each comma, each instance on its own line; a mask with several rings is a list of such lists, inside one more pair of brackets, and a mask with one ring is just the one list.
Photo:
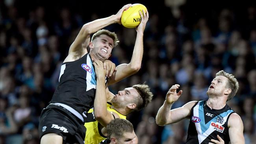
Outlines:
[[163, 105], [158, 110], [158, 113], [156, 114], [156, 124], [159, 126], [164, 126], [169, 121], [169, 118], [171, 117], [171, 106], [173, 104], [167, 104], [166, 102], [163, 103]]

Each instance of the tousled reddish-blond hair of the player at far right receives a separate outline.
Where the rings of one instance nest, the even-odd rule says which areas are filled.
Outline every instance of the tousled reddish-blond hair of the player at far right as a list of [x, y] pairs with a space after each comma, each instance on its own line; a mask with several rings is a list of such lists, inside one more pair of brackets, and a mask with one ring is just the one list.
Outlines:
[[224, 70], [217, 72], [216, 76], [224, 76], [228, 79], [226, 83], [226, 88], [231, 89], [231, 92], [228, 95], [228, 100], [232, 99], [236, 95], [237, 90], [239, 89], [239, 83], [235, 76], [226, 73]]

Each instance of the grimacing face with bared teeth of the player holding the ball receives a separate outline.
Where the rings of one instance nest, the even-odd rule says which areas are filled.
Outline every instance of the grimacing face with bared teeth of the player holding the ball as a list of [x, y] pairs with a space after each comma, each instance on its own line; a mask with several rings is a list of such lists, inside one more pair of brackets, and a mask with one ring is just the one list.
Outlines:
[[92, 52], [100, 59], [108, 59], [114, 46], [114, 41], [108, 35], [100, 35], [93, 41]]

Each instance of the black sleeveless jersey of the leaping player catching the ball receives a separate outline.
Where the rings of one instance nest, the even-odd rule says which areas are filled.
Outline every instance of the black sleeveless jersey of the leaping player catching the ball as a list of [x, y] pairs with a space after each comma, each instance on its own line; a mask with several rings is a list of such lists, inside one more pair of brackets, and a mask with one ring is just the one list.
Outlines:
[[63, 103], [72, 107], [85, 120], [93, 105], [96, 88], [96, 74], [89, 54], [76, 61], [61, 65], [59, 85], [50, 103]]

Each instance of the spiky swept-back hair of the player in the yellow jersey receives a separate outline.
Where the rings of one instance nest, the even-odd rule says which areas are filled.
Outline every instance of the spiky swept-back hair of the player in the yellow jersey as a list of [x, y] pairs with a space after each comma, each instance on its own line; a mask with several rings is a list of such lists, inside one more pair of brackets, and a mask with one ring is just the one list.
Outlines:
[[139, 111], [144, 107], [147, 107], [148, 103], [151, 102], [153, 93], [150, 91], [149, 86], [146, 84], [138, 84], [132, 87], [139, 93], [138, 98], [135, 99], [136, 107], [134, 109], [135, 111]]

